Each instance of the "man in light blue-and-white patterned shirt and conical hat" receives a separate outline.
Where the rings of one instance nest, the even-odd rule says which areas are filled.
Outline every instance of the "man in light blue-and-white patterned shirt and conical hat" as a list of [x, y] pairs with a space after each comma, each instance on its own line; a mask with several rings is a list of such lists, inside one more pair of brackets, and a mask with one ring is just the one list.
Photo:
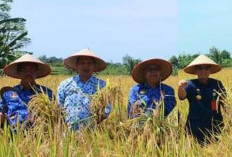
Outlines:
[[[104, 70], [107, 64], [90, 49], [82, 49], [66, 58], [64, 64], [78, 74], [59, 85], [58, 105], [64, 109], [65, 119], [71, 129], [78, 130], [80, 124], [85, 126], [91, 117], [90, 95], [106, 85], [105, 81], [98, 79], [93, 74]], [[111, 105], [108, 105], [100, 120], [105, 119], [110, 111]]]

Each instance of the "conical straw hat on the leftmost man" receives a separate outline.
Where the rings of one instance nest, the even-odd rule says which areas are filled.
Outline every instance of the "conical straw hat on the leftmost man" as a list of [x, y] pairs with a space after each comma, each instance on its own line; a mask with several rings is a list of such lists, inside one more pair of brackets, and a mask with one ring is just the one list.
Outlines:
[[18, 64], [20, 63], [34, 63], [37, 65], [36, 78], [42, 78], [50, 74], [51, 68], [49, 65], [43, 63], [42, 61], [34, 58], [30, 54], [25, 54], [14, 62], [10, 63], [4, 68], [4, 73], [10, 77], [22, 79], [17, 71]]

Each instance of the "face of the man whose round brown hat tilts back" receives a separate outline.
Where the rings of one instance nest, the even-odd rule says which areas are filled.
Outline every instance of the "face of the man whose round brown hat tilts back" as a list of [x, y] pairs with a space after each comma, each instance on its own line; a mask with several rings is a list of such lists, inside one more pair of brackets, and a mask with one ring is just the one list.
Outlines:
[[145, 79], [148, 83], [156, 84], [160, 81], [161, 67], [157, 64], [149, 65], [145, 68]]

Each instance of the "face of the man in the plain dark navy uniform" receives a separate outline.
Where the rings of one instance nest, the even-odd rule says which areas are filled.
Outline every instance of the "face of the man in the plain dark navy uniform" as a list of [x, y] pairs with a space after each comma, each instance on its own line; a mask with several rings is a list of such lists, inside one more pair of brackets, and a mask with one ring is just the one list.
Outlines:
[[196, 66], [196, 75], [199, 80], [208, 80], [210, 75], [210, 65], [199, 65]]

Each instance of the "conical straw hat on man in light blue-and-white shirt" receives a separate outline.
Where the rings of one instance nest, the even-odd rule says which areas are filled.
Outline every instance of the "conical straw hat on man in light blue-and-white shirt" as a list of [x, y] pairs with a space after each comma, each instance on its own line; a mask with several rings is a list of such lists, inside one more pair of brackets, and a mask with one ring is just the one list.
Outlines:
[[100, 57], [96, 56], [90, 49], [82, 49], [79, 52], [71, 55], [70, 57], [64, 60], [64, 64], [72, 70], [77, 70], [76, 61], [80, 57], [91, 57], [94, 59], [95, 61], [94, 72], [100, 72], [104, 70], [107, 66], [106, 62]]

